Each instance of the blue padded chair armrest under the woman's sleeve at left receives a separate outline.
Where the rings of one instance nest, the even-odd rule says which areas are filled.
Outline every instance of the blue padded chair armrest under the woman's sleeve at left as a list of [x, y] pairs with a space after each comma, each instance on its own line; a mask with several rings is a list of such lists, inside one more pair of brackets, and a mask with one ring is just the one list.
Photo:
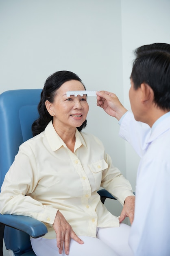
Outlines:
[[44, 236], [48, 232], [43, 222], [28, 216], [0, 214], [0, 223], [24, 231], [33, 238]]

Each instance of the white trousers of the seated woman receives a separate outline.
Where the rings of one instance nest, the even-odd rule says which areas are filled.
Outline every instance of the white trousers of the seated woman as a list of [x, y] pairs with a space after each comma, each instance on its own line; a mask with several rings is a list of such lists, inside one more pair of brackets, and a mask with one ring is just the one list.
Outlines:
[[[120, 227], [99, 228], [96, 238], [79, 236], [83, 245], [71, 239], [69, 256], [133, 256], [128, 244], [130, 229], [123, 223]], [[37, 256], [66, 256], [64, 248], [63, 253], [59, 254], [56, 239], [31, 238], [31, 244]]]

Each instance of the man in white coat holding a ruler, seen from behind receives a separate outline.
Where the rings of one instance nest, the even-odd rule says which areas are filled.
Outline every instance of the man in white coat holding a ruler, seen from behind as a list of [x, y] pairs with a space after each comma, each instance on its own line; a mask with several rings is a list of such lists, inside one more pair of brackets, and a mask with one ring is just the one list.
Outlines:
[[127, 111], [111, 92], [97, 92], [97, 105], [116, 117], [120, 137], [141, 157], [135, 218], [129, 243], [135, 256], [170, 255], [170, 45], [135, 50]]

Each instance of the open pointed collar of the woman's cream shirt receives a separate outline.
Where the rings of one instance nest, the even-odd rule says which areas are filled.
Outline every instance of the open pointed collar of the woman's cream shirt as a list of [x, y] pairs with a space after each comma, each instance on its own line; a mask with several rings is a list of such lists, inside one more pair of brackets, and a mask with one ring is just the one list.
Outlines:
[[[61, 137], [57, 134], [56, 130], [54, 129], [52, 121], [50, 121], [50, 123], [46, 126], [45, 134], [52, 151], [56, 151], [62, 146], [67, 148], [64, 141], [61, 139]], [[76, 151], [76, 149], [79, 148], [82, 144], [86, 147], [86, 144], [81, 135], [81, 132], [79, 132], [77, 129], [76, 129], [75, 136], [76, 136], [76, 142], [74, 146], [74, 151]]]

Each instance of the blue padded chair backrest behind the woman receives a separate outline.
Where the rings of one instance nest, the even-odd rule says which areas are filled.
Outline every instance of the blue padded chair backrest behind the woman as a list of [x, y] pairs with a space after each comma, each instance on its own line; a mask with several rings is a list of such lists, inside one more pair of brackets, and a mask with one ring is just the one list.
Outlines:
[[[10, 90], [0, 94], [0, 186], [13, 163], [19, 146], [33, 137], [31, 126], [33, 121], [39, 117], [37, 105], [41, 91], [41, 89], [23, 89]], [[22, 233], [9, 227], [5, 229], [6, 246], [8, 246], [10, 237], [24, 239], [23, 242], [15, 242], [13, 239], [13, 244], [16, 247], [17, 243], [20, 244], [17, 249], [18, 254], [15, 255], [22, 255], [22, 245], [24, 245], [24, 250], [29, 250], [30, 247], [29, 236], [27, 235], [25, 238]]]

